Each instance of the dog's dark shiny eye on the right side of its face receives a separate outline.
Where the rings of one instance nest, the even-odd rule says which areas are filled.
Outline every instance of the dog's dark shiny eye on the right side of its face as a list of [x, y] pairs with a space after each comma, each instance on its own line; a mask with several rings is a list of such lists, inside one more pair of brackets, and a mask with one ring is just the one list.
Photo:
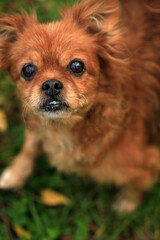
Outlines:
[[75, 76], [81, 76], [85, 70], [85, 65], [80, 59], [74, 59], [69, 64], [69, 71]]

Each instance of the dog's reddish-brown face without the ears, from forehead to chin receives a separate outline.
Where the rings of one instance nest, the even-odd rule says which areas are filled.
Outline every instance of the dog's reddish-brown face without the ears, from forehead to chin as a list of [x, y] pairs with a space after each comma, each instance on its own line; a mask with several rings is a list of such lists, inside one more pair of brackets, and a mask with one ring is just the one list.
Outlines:
[[11, 74], [22, 100], [45, 118], [66, 118], [90, 108], [99, 62], [92, 38], [65, 22], [27, 28], [12, 47]]

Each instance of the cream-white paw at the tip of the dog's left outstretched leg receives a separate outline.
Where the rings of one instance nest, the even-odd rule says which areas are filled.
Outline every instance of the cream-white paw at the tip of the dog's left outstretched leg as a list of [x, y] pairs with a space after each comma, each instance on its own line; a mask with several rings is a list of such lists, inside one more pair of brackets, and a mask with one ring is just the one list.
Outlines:
[[23, 185], [24, 179], [12, 167], [7, 168], [0, 177], [1, 189], [20, 188]]

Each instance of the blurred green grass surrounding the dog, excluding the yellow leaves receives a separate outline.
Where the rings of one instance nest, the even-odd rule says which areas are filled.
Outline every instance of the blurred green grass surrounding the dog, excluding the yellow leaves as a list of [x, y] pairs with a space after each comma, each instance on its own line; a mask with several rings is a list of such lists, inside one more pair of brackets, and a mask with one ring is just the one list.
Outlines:
[[[68, 1], [70, 4], [73, 1]], [[23, 7], [37, 10], [40, 21], [58, 19], [55, 7], [64, 1], [1, 0], [1, 12]], [[8, 74], [0, 75], [0, 108], [8, 119], [8, 131], [0, 133], [0, 172], [19, 152], [25, 127], [20, 116], [16, 89]], [[40, 192], [53, 188], [71, 199], [68, 206], [46, 207]], [[159, 240], [160, 180], [133, 214], [118, 215], [111, 209], [117, 189], [90, 179], [66, 175], [51, 169], [47, 157], [37, 162], [35, 173], [22, 190], [0, 191], [0, 240], [18, 238], [14, 226], [31, 233], [32, 240]]]

